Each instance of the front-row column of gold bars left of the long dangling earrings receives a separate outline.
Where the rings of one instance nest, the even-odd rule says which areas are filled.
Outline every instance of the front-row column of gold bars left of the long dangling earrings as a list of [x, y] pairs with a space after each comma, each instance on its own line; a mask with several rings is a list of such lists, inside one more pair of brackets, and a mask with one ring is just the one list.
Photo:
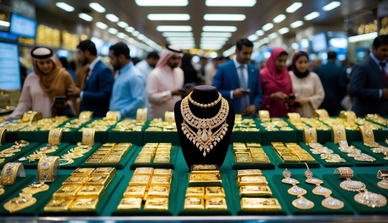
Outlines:
[[237, 170], [237, 185], [241, 197], [242, 210], [281, 210], [282, 207], [268, 187], [267, 179], [261, 170]]

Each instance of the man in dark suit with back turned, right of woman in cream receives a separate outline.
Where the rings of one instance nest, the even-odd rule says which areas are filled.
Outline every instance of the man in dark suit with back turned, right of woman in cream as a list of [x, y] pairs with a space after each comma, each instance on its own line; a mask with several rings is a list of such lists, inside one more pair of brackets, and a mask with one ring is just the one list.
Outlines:
[[327, 53], [327, 63], [315, 69], [325, 91], [325, 98], [319, 108], [327, 110], [330, 116], [338, 116], [341, 110], [341, 100], [346, 95], [345, 69], [336, 65], [337, 53]]

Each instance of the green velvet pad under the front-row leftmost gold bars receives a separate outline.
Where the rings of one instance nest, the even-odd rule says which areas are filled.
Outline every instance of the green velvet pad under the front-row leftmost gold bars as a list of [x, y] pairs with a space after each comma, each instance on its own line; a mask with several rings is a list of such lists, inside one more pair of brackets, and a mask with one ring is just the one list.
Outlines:
[[[107, 201], [109, 200], [109, 197], [112, 196], [113, 192], [115, 192], [117, 185], [120, 183], [121, 179], [124, 177], [124, 173], [116, 173], [116, 175], [113, 177], [111, 182], [107, 185], [104, 195], [100, 199], [100, 201], [97, 204], [96, 209], [90, 210], [90, 211], [59, 211], [59, 212], [51, 212], [51, 211], [44, 211], [44, 206], [40, 209], [39, 215], [40, 216], [99, 216], [104, 209], [104, 207], [107, 205]], [[66, 180], [66, 179], [65, 179]], [[61, 182], [62, 183], [62, 182]], [[50, 201], [50, 200], [49, 200]], [[47, 201], [45, 205], [49, 202]], [[110, 208], [111, 206], [108, 204], [106, 208]]]

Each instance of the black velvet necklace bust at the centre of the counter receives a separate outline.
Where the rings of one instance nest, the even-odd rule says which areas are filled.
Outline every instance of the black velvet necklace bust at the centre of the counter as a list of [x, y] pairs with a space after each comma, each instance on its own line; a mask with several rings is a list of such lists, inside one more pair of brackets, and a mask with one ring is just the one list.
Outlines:
[[[191, 94], [191, 98], [194, 101], [199, 103], [208, 104], [214, 102], [218, 98], [217, 87], [200, 85], [194, 87], [194, 92]], [[178, 136], [180, 141], [180, 146], [182, 147], [182, 153], [187, 163], [187, 166], [191, 167], [193, 164], [217, 164], [218, 166], [222, 166], [223, 161], [225, 160], [226, 153], [228, 152], [230, 137], [232, 136], [232, 130], [234, 125], [234, 117], [235, 117], [235, 109], [234, 105], [228, 101], [229, 103], [229, 113], [226, 118], [226, 123], [229, 125], [227, 128], [226, 135], [223, 139], [217, 143], [206, 156], [203, 156], [203, 151], [201, 152], [196, 145], [194, 145], [189, 139], [186, 138], [185, 134], [181, 129], [183, 123], [182, 112], [180, 110], [181, 101], [178, 101], [175, 104], [174, 114], [175, 114], [175, 122], [177, 124]], [[189, 102], [189, 107], [194, 116], [198, 118], [212, 118], [217, 115], [221, 108], [221, 102], [217, 103], [217, 105], [201, 108], [199, 106], [195, 106]], [[217, 131], [222, 125], [219, 125], [217, 128], [213, 130], [213, 132]], [[190, 126], [191, 127], [191, 126]], [[195, 130], [193, 127], [191, 129]]]

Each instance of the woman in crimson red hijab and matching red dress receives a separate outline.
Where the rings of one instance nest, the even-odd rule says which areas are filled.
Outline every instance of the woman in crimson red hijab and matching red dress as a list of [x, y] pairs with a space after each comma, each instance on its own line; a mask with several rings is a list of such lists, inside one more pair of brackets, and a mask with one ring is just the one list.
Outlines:
[[283, 48], [274, 48], [266, 66], [260, 70], [263, 101], [260, 110], [268, 110], [271, 117], [287, 117], [296, 112], [293, 103], [291, 78], [286, 67], [288, 54]]

